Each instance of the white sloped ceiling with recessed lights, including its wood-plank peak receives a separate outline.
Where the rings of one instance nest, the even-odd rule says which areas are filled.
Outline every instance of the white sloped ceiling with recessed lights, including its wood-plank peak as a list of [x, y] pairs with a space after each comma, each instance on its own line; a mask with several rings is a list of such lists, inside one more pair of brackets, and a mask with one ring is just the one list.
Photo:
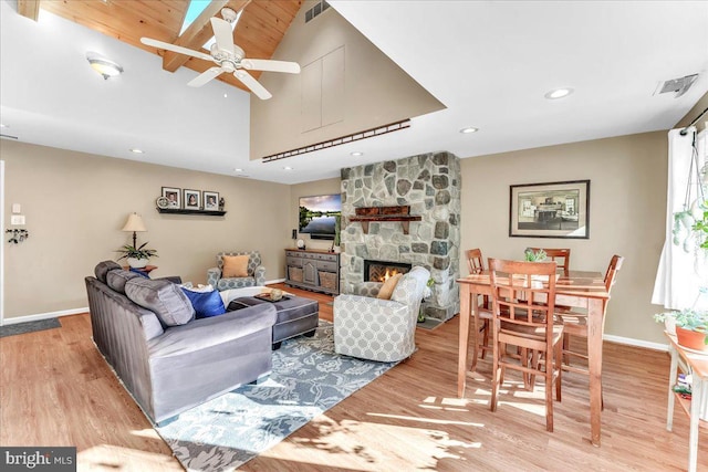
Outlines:
[[[179, 39], [186, 0], [18, 0], [17, 9], [12, 0], [0, 1], [2, 134], [299, 183], [336, 177], [342, 167], [436, 150], [470, 158], [664, 130], [708, 92], [706, 1], [331, 0], [309, 28], [341, 15], [446, 108], [413, 117], [402, 132], [264, 164], [249, 158], [250, 103], [257, 98], [236, 88], [240, 84], [228, 74], [228, 84], [187, 87], [211, 64], [139, 42], [149, 36], [197, 48], [209, 34], [208, 17], [225, 3], [238, 10], [244, 1], [215, 0]], [[303, 10], [314, 3], [252, 0], [235, 42], [249, 57], [278, 55], [289, 25], [304, 24]], [[38, 15], [38, 22], [28, 19]], [[124, 74], [97, 76], [87, 66], [88, 50], [119, 62]], [[365, 65], [355, 70], [367, 72]], [[665, 81], [691, 74], [698, 78], [686, 94], [658, 93]], [[561, 86], [574, 93], [544, 98]], [[459, 133], [468, 126], [479, 132]], [[133, 155], [131, 147], [146, 153]]]

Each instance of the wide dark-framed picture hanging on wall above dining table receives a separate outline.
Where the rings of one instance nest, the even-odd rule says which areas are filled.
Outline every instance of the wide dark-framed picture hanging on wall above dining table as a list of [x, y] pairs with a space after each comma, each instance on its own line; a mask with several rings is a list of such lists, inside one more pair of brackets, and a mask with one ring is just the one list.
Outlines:
[[509, 235], [590, 238], [590, 180], [509, 187]]

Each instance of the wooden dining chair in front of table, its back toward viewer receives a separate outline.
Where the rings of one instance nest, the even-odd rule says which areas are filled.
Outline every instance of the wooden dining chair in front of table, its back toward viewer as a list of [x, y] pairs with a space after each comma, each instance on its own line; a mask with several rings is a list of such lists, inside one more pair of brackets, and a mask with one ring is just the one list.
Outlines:
[[[489, 259], [492, 287], [492, 391], [497, 410], [507, 369], [545, 380], [545, 429], [553, 431], [553, 387], [561, 401], [561, 339], [563, 324], [554, 316], [555, 262]], [[508, 346], [517, 347], [508, 352]]]

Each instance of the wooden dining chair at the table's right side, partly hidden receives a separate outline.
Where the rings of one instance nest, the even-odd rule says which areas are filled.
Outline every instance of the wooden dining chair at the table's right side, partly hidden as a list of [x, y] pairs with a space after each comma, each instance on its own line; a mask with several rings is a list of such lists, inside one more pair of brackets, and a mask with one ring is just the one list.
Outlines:
[[[622, 263], [624, 262], [624, 258], [621, 255], [613, 255], [610, 261], [610, 265], [607, 266], [607, 271], [605, 272], [605, 289], [607, 293], [611, 293], [611, 290], [615, 282], [617, 281], [617, 271], [622, 269]], [[607, 313], [607, 302], [605, 302], [603, 306], [602, 313], [602, 331], [605, 332], [605, 314]], [[572, 350], [571, 348], [571, 336], [576, 336], [583, 338], [585, 344], [587, 344], [587, 313], [576, 312], [576, 311], [562, 311], [559, 313], [559, 317], [563, 321], [563, 370], [590, 375], [590, 369], [586, 366], [581, 365], [571, 365], [571, 358], [582, 358], [587, 361], [587, 354], [581, 353], [576, 350]]]

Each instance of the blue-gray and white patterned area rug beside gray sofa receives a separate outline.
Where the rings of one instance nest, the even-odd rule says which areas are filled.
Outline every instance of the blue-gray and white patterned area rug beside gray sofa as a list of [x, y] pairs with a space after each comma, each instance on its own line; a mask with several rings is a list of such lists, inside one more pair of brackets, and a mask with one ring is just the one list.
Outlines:
[[231, 471], [275, 445], [397, 363], [334, 353], [332, 324], [313, 337], [284, 340], [273, 371], [260, 385], [239, 387], [156, 427], [189, 471]]

